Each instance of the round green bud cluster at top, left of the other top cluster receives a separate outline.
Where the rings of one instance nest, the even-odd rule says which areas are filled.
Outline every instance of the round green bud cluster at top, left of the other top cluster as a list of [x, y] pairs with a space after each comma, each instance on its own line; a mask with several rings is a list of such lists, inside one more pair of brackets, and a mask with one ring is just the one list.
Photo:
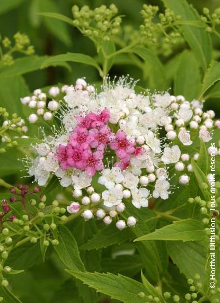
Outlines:
[[112, 35], [118, 34], [121, 17], [116, 16], [118, 9], [114, 4], [101, 5], [91, 10], [88, 5], [72, 7], [73, 25], [94, 42], [110, 41]]

